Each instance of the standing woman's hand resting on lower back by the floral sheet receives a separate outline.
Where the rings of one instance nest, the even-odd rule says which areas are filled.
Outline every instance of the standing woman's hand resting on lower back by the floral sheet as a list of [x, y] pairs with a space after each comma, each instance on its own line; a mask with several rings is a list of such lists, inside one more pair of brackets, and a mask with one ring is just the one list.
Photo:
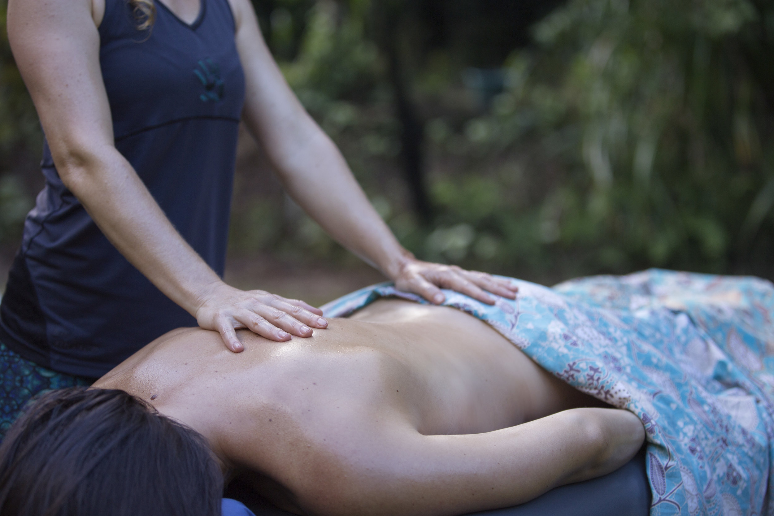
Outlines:
[[495, 304], [495, 297], [491, 294], [515, 299], [519, 291], [519, 287], [507, 279], [495, 278], [485, 272], [466, 271], [457, 265], [430, 263], [416, 258], [407, 258], [392, 280], [397, 289], [419, 294], [435, 305], [440, 305], [446, 299], [440, 289], [456, 290], [488, 305]]

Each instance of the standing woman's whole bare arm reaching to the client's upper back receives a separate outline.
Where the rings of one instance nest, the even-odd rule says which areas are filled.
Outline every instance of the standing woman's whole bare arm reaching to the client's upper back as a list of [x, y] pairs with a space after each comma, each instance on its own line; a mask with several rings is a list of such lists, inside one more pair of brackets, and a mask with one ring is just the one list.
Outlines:
[[115, 149], [91, 0], [11, 0], [8, 32], [57, 171], [101, 231], [174, 302], [242, 350], [235, 328], [272, 340], [327, 325], [306, 303], [224, 282], [180, 237]]

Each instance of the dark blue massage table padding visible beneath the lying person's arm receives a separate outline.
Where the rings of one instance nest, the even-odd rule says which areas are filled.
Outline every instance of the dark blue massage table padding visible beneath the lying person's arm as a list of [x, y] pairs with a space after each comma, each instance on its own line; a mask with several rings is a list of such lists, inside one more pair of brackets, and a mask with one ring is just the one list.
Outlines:
[[[294, 516], [238, 482], [232, 482], [226, 494], [244, 502], [256, 516]], [[526, 504], [466, 516], [648, 516], [650, 501], [643, 447], [634, 459], [604, 477], [557, 487]], [[242, 512], [224, 511], [223, 516], [249, 516], [245, 506], [239, 507]]]

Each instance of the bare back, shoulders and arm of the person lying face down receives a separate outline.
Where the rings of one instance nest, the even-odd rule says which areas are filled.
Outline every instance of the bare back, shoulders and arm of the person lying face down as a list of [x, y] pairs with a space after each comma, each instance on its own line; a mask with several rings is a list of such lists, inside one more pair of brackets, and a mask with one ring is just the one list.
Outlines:
[[634, 415], [567, 410], [603, 405], [456, 309], [388, 299], [311, 338], [240, 338], [233, 354], [215, 332], [175, 330], [94, 386], [190, 425], [224, 469], [299, 514], [518, 504], [642, 444]]

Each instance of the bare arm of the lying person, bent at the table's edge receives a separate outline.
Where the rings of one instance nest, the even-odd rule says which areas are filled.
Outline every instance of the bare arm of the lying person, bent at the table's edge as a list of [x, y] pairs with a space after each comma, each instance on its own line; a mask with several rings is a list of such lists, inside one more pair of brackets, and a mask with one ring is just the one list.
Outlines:
[[325, 495], [301, 505], [312, 514], [372, 516], [508, 507], [618, 469], [643, 439], [639, 419], [615, 408], [574, 408], [483, 434], [406, 432], [371, 460], [340, 465], [317, 486]]

